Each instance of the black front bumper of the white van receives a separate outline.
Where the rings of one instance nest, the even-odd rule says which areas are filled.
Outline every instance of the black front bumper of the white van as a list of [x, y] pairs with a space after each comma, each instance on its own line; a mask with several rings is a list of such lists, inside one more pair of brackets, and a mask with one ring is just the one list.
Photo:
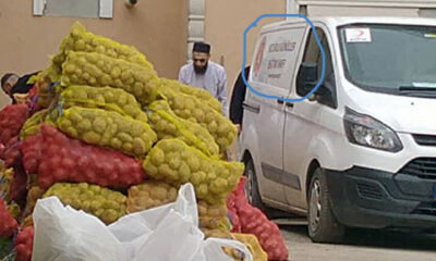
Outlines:
[[347, 226], [436, 227], [436, 178], [359, 166], [325, 174], [332, 211]]

